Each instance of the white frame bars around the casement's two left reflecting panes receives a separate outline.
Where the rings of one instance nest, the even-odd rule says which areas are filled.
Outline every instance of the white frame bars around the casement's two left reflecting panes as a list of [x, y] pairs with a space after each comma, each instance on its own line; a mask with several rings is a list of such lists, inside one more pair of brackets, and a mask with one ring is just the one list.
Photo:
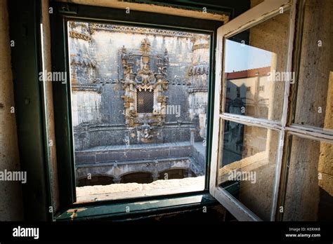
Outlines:
[[[209, 192], [217, 201], [224, 205], [231, 214], [233, 214], [238, 220], [243, 221], [260, 221], [261, 219], [254, 214], [249, 208], [243, 205], [235, 197], [233, 197], [228, 191], [218, 187], [216, 184], [218, 177], [218, 162], [221, 158], [221, 148], [223, 144], [223, 121], [233, 121], [242, 123], [248, 126], [259, 126], [266, 129], [278, 130], [280, 132], [278, 158], [275, 169], [274, 189], [273, 189], [273, 204], [271, 210], [270, 220], [275, 219], [275, 212], [278, 203], [278, 188], [280, 184], [280, 172], [282, 165], [282, 151], [284, 148], [284, 138], [287, 123], [287, 106], [289, 97], [290, 82], [285, 82], [285, 92], [283, 99], [283, 109], [281, 121], [270, 121], [266, 118], [254, 118], [251, 116], [242, 116], [237, 114], [228, 114], [224, 112], [226, 104], [226, 80], [224, 76], [224, 50], [225, 41], [228, 37], [238, 34], [251, 27], [259, 25], [261, 22], [273, 18], [279, 14], [280, 8], [284, 11], [290, 10], [290, 22], [289, 22], [289, 38], [287, 46], [287, 65], [286, 72], [292, 71], [292, 53], [293, 53], [293, 41], [294, 41], [294, 20], [296, 11], [296, 1], [292, 0], [266, 0], [263, 3], [254, 6], [249, 11], [243, 13], [239, 17], [231, 20], [226, 25], [218, 28], [217, 32], [217, 49], [216, 49], [216, 75], [215, 75], [215, 102], [214, 102], [214, 114], [218, 116], [214, 117], [213, 125], [213, 145], [211, 157], [211, 181], [209, 184]], [[222, 109], [222, 113], [220, 111]]]

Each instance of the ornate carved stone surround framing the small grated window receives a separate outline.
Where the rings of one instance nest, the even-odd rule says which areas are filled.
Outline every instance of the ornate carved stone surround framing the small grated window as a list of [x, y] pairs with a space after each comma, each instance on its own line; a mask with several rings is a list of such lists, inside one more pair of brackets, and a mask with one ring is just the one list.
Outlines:
[[[123, 46], [119, 50], [123, 68], [124, 116], [126, 125], [137, 127], [141, 131], [141, 141], [150, 142], [154, 136], [151, 130], [155, 126], [163, 126], [167, 97], [164, 90], [168, 89], [169, 81], [166, 79], [169, 67], [169, 55], [165, 49], [157, 56], [150, 55], [151, 44], [148, 39], [143, 39], [138, 53], [127, 52]], [[135, 57], [134, 57], [135, 56]], [[136, 60], [135, 60], [136, 59]], [[152, 59], [155, 59], [155, 70], [150, 67]], [[136, 69], [136, 71], [134, 71]], [[154, 95], [154, 107], [152, 113], [138, 113], [136, 95], [141, 91], [149, 91]], [[143, 128], [144, 126], [145, 128]]]

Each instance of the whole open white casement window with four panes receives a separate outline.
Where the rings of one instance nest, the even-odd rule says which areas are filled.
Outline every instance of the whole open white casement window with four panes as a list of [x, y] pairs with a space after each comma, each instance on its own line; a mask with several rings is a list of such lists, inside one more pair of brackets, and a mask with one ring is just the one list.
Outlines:
[[[239, 220], [332, 219], [332, 67], [311, 81], [302, 70], [311, 4], [266, 0], [218, 29], [209, 191]], [[313, 96], [323, 112], [308, 109]]]

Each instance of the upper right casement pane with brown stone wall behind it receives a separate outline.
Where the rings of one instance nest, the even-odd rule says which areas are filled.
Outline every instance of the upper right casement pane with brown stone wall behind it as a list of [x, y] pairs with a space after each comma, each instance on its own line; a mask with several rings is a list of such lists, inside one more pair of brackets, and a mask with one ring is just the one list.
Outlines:
[[306, 1], [294, 123], [333, 133], [332, 9], [331, 0]]

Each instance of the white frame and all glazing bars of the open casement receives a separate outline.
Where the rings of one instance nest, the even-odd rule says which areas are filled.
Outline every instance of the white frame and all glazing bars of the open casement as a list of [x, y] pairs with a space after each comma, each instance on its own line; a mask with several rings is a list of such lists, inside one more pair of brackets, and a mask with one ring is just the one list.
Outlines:
[[[221, 148], [223, 145], [223, 121], [234, 121], [249, 126], [259, 126], [280, 131], [278, 161], [275, 168], [275, 183], [270, 221], [282, 220], [282, 215], [278, 212], [278, 205], [284, 205], [284, 191], [287, 183], [287, 163], [289, 159], [289, 151], [291, 149], [289, 143], [290, 136], [298, 135], [311, 140], [333, 143], [333, 134], [330, 131], [320, 130], [320, 128], [311, 128], [309, 126], [296, 125], [292, 121], [294, 104], [296, 102], [295, 94], [297, 86], [295, 85], [298, 84], [297, 72], [299, 72], [299, 62], [297, 62], [297, 60], [301, 58], [301, 52], [299, 51], [301, 37], [297, 39], [296, 35], [302, 34], [302, 28], [300, 26], [303, 25], [304, 3], [305, 0], [266, 0], [218, 29], [215, 81], [217, 89], [215, 90], [214, 113], [219, 114], [219, 116], [214, 118], [214, 137], [211, 150], [215, 152], [215, 154], [212, 154], [211, 158], [211, 182], [209, 192], [239, 220], [261, 221], [261, 219], [255, 215], [254, 212], [249, 210], [245, 205], [228, 193], [228, 191], [216, 186], [218, 177], [218, 162], [221, 158]], [[287, 67], [285, 71], [292, 72], [296, 70], [296, 82], [285, 82], [281, 121], [269, 121], [264, 118], [227, 114], [224, 113], [224, 110], [221, 114], [220, 108], [225, 109], [226, 102], [224, 99], [224, 97], [226, 97], [226, 80], [224, 79], [223, 71], [223, 46], [226, 38], [249, 29], [250, 27], [254, 27], [255, 25], [259, 25], [265, 20], [273, 18], [279, 13], [280, 7], [284, 8], [284, 11], [288, 9], [290, 10]], [[296, 13], [299, 16], [297, 20]], [[295, 31], [296, 25], [298, 29], [297, 33]]]

